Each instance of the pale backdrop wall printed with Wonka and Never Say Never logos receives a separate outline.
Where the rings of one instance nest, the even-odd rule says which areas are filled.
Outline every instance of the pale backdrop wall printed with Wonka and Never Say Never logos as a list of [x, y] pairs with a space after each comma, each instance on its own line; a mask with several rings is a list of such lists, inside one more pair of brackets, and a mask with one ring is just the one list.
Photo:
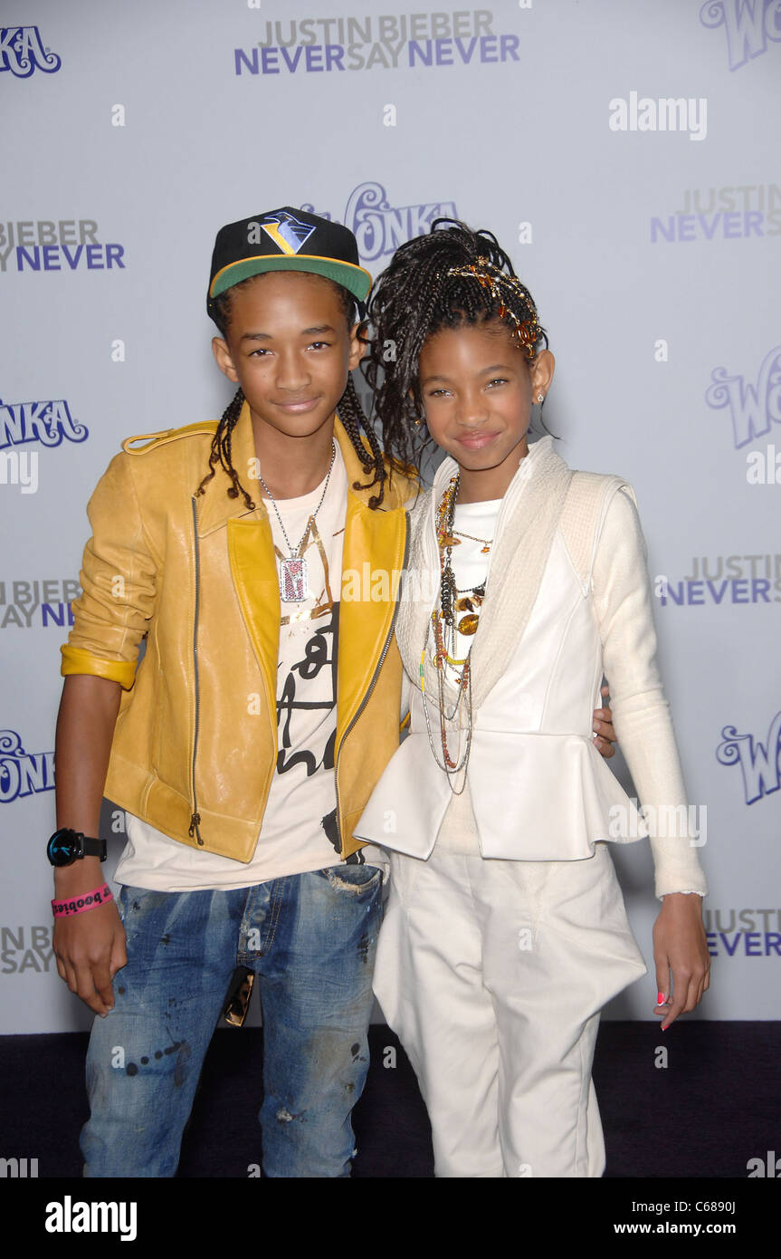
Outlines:
[[[123, 437], [219, 417], [214, 235], [285, 204], [374, 274], [438, 215], [511, 252], [560, 452], [638, 494], [711, 883], [698, 1016], [780, 1019], [778, 0], [3, 0], [0, 106], [0, 1032], [89, 1022], [44, 856], [87, 500]], [[650, 1019], [648, 844], [616, 864], [651, 972], [609, 1016]]]

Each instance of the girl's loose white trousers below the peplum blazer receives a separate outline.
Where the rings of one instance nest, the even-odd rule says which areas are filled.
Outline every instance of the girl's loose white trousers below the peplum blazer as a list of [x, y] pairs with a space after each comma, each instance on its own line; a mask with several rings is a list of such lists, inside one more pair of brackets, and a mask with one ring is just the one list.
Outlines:
[[436, 1176], [601, 1176], [602, 1006], [646, 973], [605, 844], [585, 861], [391, 855], [375, 992], [429, 1110]]

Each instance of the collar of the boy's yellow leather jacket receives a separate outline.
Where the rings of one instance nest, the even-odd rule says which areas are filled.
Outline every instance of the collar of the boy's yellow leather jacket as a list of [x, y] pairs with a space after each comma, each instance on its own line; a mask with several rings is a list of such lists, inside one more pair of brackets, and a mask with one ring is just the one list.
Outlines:
[[[335, 417], [333, 422], [333, 436], [338, 443], [342, 460], [345, 461], [345, 468], [347, 471], [348, 501], [355, 500], [356, 506], [371, 510], [368, 507], [368, 500], [376, 492], [376, 486], [371, 488], [361, 488], [362, 483], [367, 480], [366, 472], [363, 471], [363, 466], [353, 449], [352, 442], [350, 441], [338, 414]], [[215, 529], [220, 529], [226, 525], [229, 520], [239, 519], [241, 516], [254, 517], [257, 520], [267, 519], [268, 514], [259, 494], [259, 482], [253, 481], [249, 477], [249, 468], [252, 467], [250, 461], [255, 460], [255, 442], [253, 437], [249, 404], [244, 402], [236, 427], [233, 431], [231, 458], [233, 466], [239, 473], [239, 481], [255, 502], [255, 509], [252, 511], [246, 506], [243, 495], [239, 495], [238, 499], [228, 497], [226, 491], [230, 485], [230, 480], [228, 473], [218, 465], [214, 477], [204, 487], [204, 494], [199, 495], [195, 500], [197, 510], [197, 529], [201, 538], [213, 533]], [[358, 488], [356, 488], [356, 482], [358, 483]], [[391, 486], [389, 486], [386, 481], [385, 499], [382, 506], [379, 509], [380, 511], [395, 511], [404, 505], [404, 483], [405, 477], [400, 473], [394, 475]]]

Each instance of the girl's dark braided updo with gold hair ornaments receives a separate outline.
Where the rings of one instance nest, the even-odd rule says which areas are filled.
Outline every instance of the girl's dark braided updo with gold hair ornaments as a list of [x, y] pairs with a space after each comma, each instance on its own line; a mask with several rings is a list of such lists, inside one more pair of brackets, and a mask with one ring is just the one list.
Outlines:
[[368, 302], [374, 325], [362, 370], [375, 397], [386, 454], [420, 466], [430, 438], [421, 421], [419, 359], [441, 329], [498, 320], [529, 363], [547, 347], [537, 307], [492, 232], [435, 219], [396, 249]]

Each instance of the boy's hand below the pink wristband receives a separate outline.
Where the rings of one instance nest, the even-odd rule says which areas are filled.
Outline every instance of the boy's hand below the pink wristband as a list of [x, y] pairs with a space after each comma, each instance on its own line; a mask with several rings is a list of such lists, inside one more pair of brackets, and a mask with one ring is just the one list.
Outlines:
[[114, 1006], [112, 980], [127, 964], [125, 928], [109, 900], [70, 918], [58, 918], [53, 939], [57, 969], [72, 992], [103, 1017]]

